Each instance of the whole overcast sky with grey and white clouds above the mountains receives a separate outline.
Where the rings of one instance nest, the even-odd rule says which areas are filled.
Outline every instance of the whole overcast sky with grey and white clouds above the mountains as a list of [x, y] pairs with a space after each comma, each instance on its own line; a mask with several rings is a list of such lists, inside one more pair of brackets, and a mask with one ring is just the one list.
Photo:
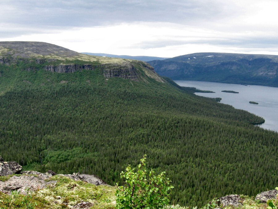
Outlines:
[[175, 57], [278, 55], [277, 0], [0, 0], [0, 41]]

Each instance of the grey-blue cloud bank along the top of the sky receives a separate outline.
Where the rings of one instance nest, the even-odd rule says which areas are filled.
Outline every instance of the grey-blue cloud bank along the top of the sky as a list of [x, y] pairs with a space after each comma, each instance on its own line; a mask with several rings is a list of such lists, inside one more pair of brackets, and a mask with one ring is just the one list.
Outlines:
[[0, 1], [0, 20], [24, 28], [95, 27], [131, 22], [194, 24], [224, 15], [221, 3], [204, 0]]

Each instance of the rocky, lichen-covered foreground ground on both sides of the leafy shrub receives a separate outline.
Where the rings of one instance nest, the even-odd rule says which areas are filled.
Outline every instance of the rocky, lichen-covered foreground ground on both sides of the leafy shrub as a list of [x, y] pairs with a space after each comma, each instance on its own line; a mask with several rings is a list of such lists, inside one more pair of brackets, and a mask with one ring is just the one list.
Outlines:
[[[21, 194], [23, 199], [27, 196], [29, 204], [33, 204], [36, 208], [115, 208], [116, 188], [107, 185], [95, 175], [56, 174], [53, 171], [46, 173], [22, 172], [21, 170], [22, 167], [18, 163], [4, 162], [0, 156], [0, 177], [2, 177], [0, 178], [0, 208], [11, 206], [12, 199], [15, 198], [15, 191], [17, 194]], [[273, 189], [257, 194], [255, 200], [264, 203], [269, 199], [277, 199], [277, 195], [278, 190]], [[248, 208], [254, 209], [266, 207], [266, 204], [252, 206], [255, 204], [254, 201], [252, 202], [251, 198], [246, 197], [237, 194], [227, 195], [209, 202], [208, 207], [246, 208], [246, 204], [249, 204]], [[27, 201], [26, 198], [25, 200]], [[22, 207], [13, 206], [13, 208], [24, 207], [24, 204]], [[165, 208], [182, 209], [187, 207], [170, 206]]]

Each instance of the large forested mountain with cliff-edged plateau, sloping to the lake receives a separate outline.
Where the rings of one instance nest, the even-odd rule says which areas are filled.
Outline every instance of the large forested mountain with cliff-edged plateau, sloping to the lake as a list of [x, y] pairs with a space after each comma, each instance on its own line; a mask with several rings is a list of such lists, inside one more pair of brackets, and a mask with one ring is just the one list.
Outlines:
[[180, 205], [277, 186], [278, 133], [254, 125], [263, 118], [196, 96], [145, 62], [42, 42], [0, 42], [0, 60], [0, 155], [24, 170], [115, 185], [146, 154]]

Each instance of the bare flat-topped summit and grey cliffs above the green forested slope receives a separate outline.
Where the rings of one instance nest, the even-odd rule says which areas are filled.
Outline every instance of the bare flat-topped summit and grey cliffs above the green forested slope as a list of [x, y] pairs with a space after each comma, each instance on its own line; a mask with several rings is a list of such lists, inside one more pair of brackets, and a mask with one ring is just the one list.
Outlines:
[[142, 61], [91, 56], [45, 42], [0, 42], [0, 63], [18, 62], [22, 63], [22, 69], [25, 70], [44, 68], [52, 72], [69, 73], [100, 69], [107, 78], [121, 77], [145, 81], [146, 77], [150, 77], [164, 82], [154, 72], [153, 67]]

